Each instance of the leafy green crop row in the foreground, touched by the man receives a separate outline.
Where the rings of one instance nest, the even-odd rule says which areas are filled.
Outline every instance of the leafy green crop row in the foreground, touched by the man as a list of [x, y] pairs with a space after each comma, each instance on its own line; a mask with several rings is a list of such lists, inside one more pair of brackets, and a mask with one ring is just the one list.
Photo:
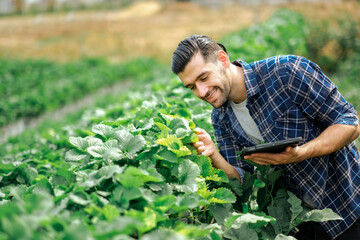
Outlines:
[[66, 129], [69, 141], [55, 133], [4, 157], [2, 238], [275, 239], [303, 221], [338, 219], [303, 209], [280, 170], [228, 179], [191, 146], [196, 126], [211, 131], [209, 107], [178, 82], [154, 89], [140, 106], [137, 94], [119, 102], [122, 116], [105, 117], [112, 106], [84, 117]]

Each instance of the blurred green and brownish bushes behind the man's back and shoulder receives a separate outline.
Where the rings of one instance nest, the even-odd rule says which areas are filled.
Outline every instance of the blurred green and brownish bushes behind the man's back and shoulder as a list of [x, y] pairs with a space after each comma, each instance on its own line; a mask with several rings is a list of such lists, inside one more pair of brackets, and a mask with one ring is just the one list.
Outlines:
[[281, 9], [266, 22], [226, 35], [219, 42], [233, 60], [251, 62], [294, 54], [309, 58], [326, 73], [334, 73], [343, 61], [359, 54], [359, 33], [358, 22], [348, 15], [313, 22], [298, 12]]

